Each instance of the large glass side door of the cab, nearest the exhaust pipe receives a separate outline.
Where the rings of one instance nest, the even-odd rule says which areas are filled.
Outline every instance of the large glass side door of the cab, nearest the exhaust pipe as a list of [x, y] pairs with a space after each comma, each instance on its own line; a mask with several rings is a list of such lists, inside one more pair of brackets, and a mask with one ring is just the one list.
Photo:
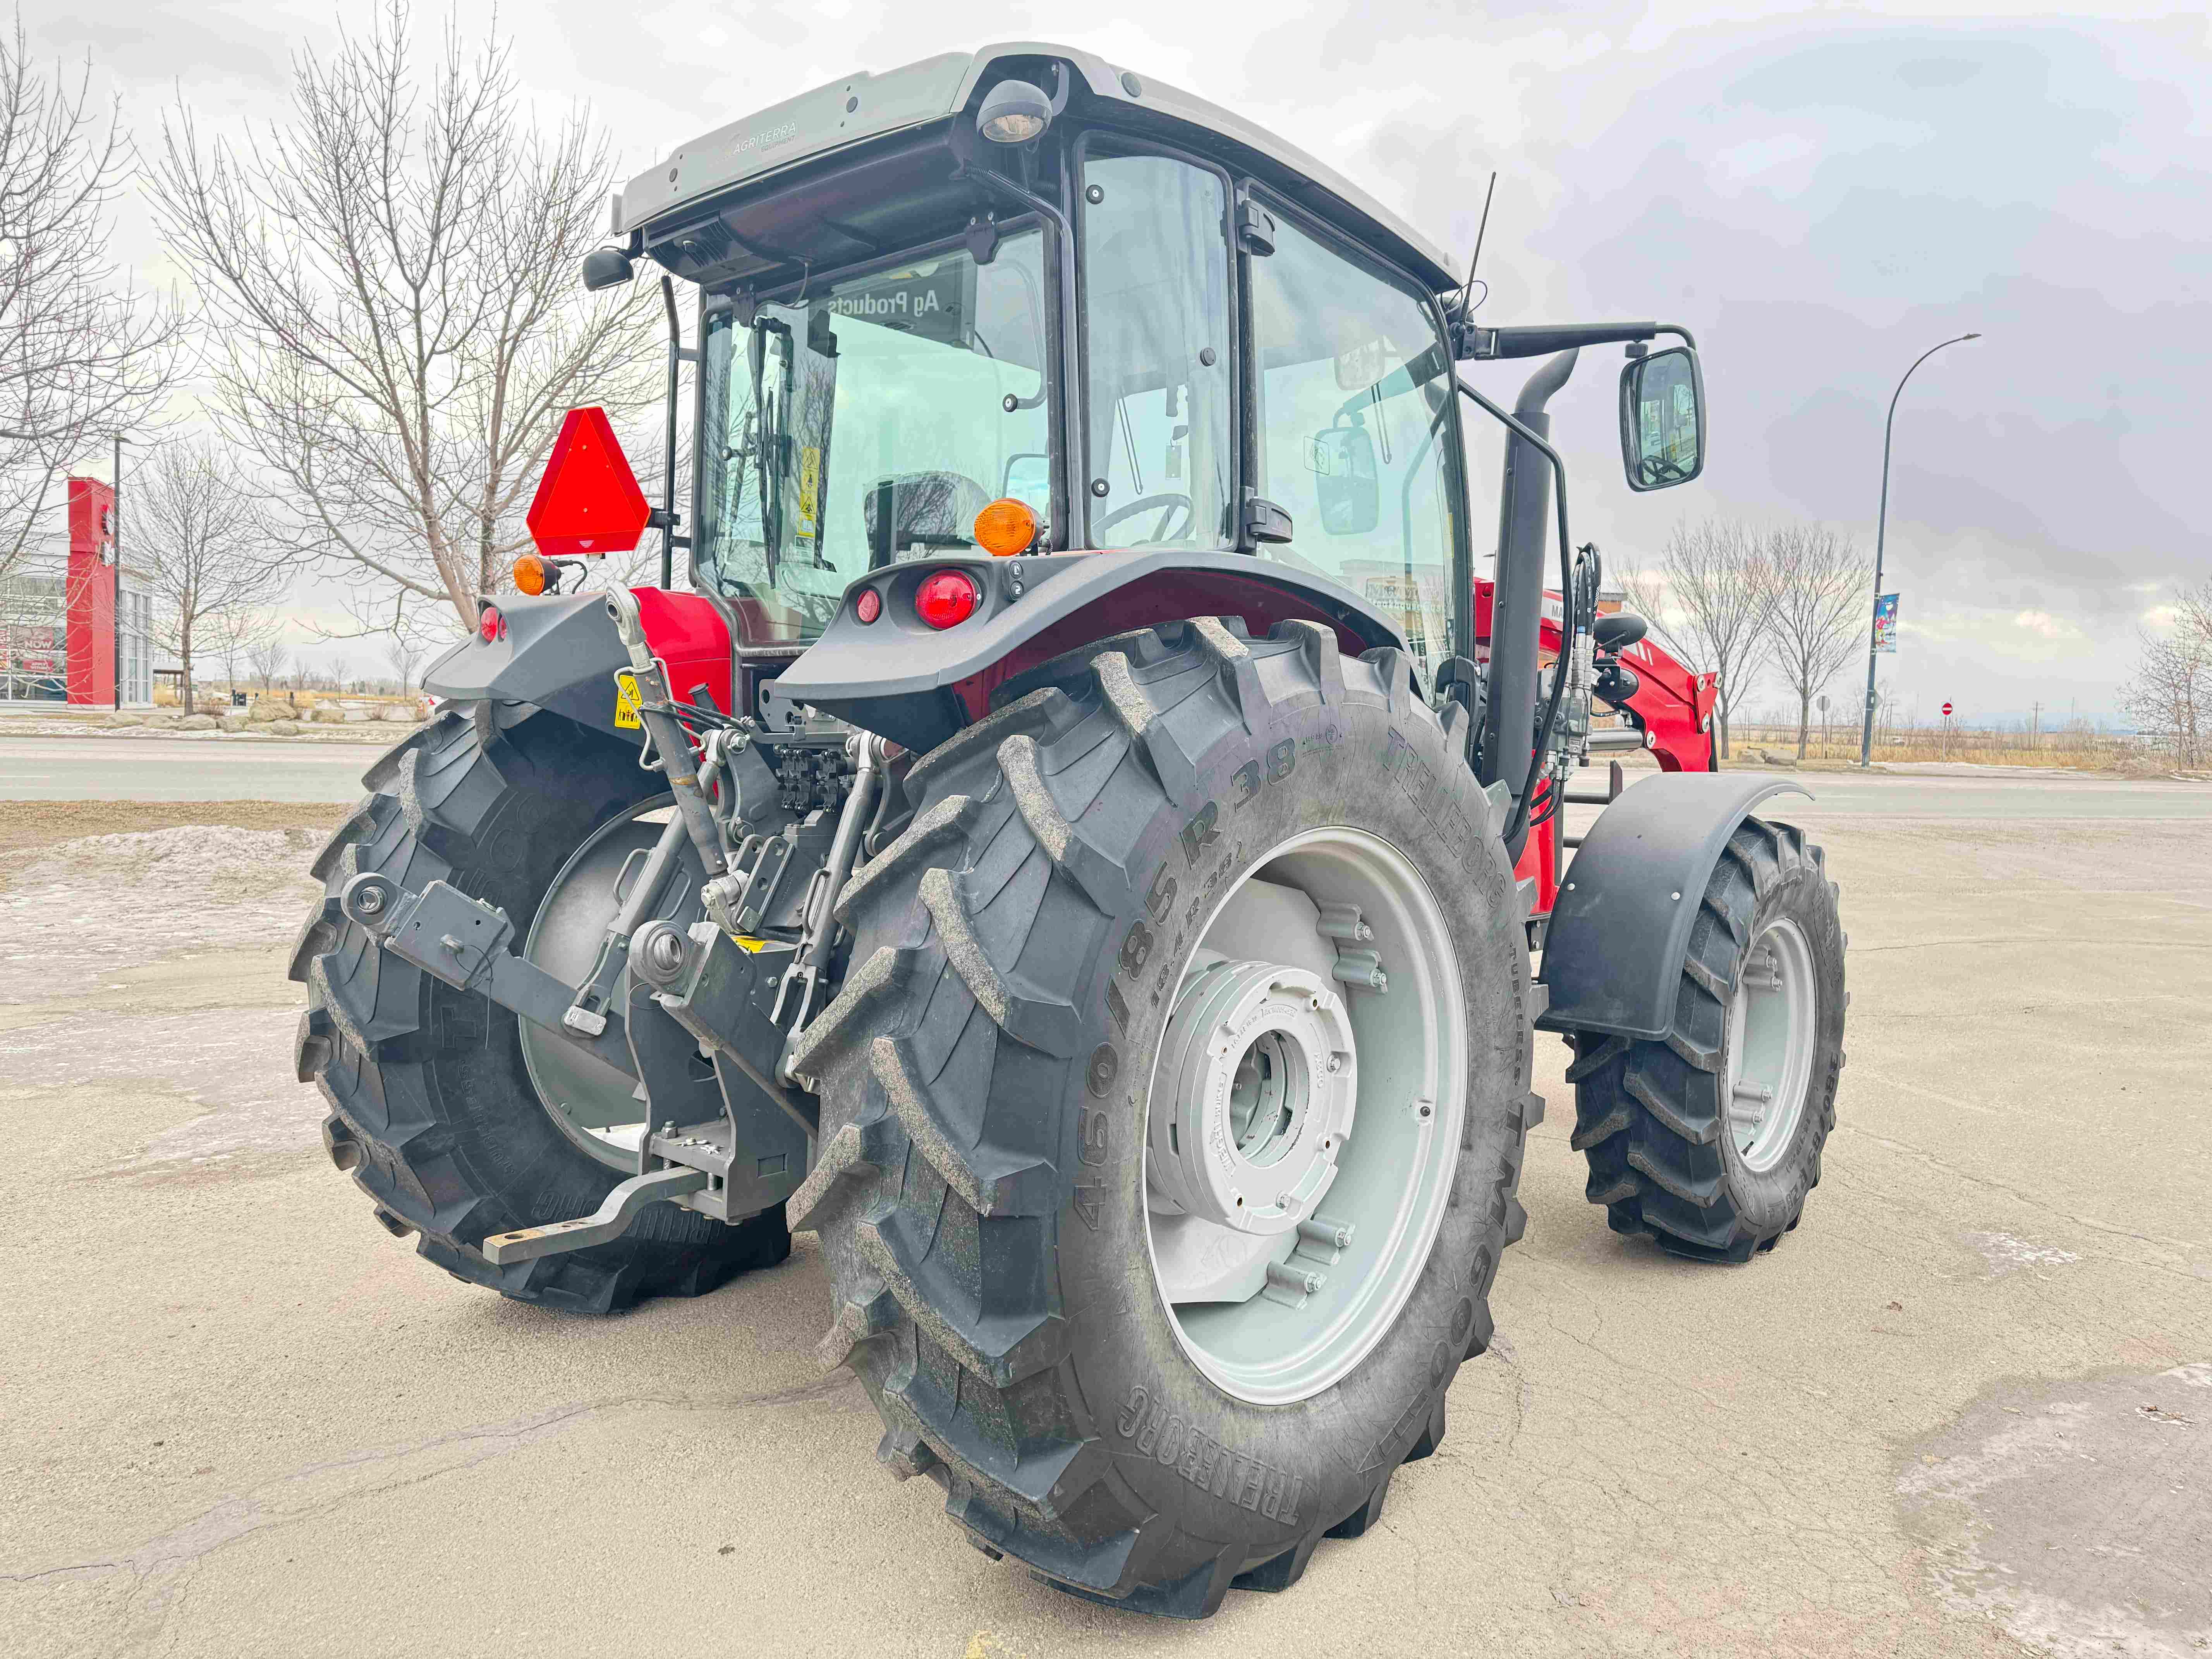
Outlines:
[[1259, 392], [1254, 489], [1292, 538], [1259, 553], [1398, 622], [1425, 675], [1451, 655], [1458, 473], [1449, 356], [1418, 290], [1276, 215], [1248, 261]]

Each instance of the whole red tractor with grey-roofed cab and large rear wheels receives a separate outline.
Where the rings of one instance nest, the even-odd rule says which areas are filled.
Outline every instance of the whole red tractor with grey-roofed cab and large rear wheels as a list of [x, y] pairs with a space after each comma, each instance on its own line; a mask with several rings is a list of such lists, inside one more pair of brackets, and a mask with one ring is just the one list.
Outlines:
[[[1321, 161], [1042, 44], [734, 122], [613, 234], [588, 288], [699, 294], [664, 580], [533, 555], [538, 597], [487, 597], [292, 964], [392, 1232], [611, 1312], [814, 1230], [880, 1460], [991, 1555], [1201, 1617], [1442, 1440], [1526, 1223], [1535, 1031], [1615, 1228], [1745, 1261], [1796, 1225], [1836, 889], [1752, 816], [1792, 785], [1639, 703], [1670, 670], [1597, 613], [1546, 438], [1624, 345], [1628, 484], [1694, 478], [1686, 330], [1484, 327]], [[1460, 374], [1502, 358], [1544, 358], [1511, 409]], [[1506, 434], [1480, 617], [1467, 422]], [[549, 544], [635, 544], [626, 478], [577, 416]], [[1604, 708], [1677, 770], [1551, 902]]]

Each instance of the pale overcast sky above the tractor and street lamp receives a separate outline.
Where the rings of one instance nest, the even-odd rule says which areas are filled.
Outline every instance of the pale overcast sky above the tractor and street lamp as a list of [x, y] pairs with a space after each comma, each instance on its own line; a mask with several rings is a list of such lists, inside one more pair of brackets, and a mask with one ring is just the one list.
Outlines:
[[[38, 55], [113, 75], [157, 135], [285, 113], [290, 58], [365, 7], [27, 0]], [[624, 173], [854, 69], [989, 40], [1062, 40], [1290, 135], [1464, 254], [1498, 168], [1491, 323], [1663, 316], [1697, 332], [1703, 480], [1630, 495], [1617, 356], [1553, 400], [1575, 540], [1635, 564], [1683, 515], [1818, 518], [1871, 542], [1896, 418], [1885, 664], [1931, 714], [2115, 706], [2135, 630], [2212, 575], [2212, 20], [2192, 7], [2055, 15], [1989, 4], [1303, 9], [790, 7], [507, 0], [549, 113], [584, 100]], [[489, 7], [420, 7], [429, 38]], [[144, 215], [126, 254], [170, 283]], [[1493, 392], [1517, 365], [1478, 369]], [[1480, 440], [1482, 484], [1495, 442]], [[1491, 502], [1478, 504], [1482, 540]], [[1849, 703], [1847, 677], [1834, 688]], [[2046, 717], [2048, 719], [2048, 717]]]

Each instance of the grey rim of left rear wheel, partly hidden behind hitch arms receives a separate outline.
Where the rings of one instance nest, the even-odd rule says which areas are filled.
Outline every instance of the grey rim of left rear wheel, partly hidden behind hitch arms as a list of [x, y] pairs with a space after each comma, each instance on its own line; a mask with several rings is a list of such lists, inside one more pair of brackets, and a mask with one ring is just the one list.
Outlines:
[[[650, 852], [672, 812], [670, 796], [657, 796], [630, 807], [628, 814], [599, 825], [560, 867], [553, 885], [538, 902], [522, 956], [564, 984], [582, 984], [599, 960], [599, 942], [615, 916], [615, 885], [624, 865], [639, 849]], [[630, 971], [615, 980], [615, 1004], [630, 995]], [[637, 1099], [637, 1079], [597, 1055], [540, 1031], [529, 1020], [522, 1026], [522, 1066], [538, 1091], [546, 1117], [577, 1148], [608, 1168], [637, 1172], [637, 1141], [646, 1130], [646, 1108]]]

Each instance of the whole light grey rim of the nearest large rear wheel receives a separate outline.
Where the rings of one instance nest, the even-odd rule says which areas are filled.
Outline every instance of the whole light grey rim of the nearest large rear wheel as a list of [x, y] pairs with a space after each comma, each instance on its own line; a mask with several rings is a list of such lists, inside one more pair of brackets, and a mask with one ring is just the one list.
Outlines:
[[1451, 1197], [1467, 1004], [1420, 872], [1363, 830], [1274, 847], [1214, 905], [1152, 1068], [1146, 1252], [1183, 1354], [1281, 1405], [1356, 1367]]

